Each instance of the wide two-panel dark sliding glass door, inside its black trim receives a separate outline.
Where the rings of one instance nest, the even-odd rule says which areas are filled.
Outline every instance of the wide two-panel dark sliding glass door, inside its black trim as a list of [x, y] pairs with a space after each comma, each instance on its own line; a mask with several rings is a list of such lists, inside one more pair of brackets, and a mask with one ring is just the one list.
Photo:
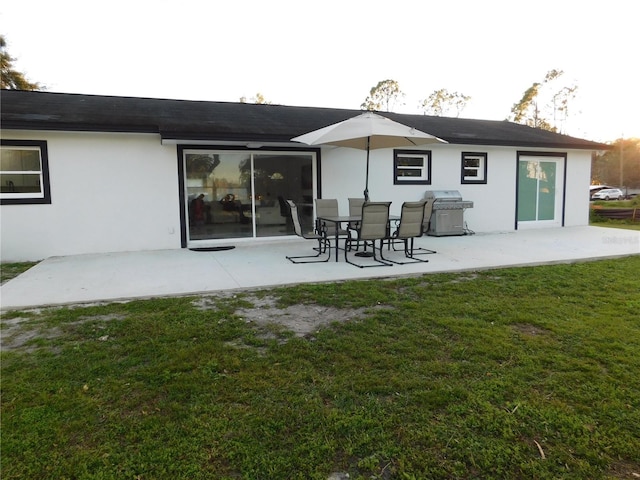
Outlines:
[[313, 221], [313, 154], [190, 149], [184, 153], [188, 242], [292, 235], [285, 200]]

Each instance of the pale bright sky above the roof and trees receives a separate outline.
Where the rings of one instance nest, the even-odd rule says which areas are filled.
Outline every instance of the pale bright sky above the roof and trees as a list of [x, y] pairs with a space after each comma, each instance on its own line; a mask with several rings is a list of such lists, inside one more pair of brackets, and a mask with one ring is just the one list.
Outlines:
[[504, 120], [552, 69], [577, 86], [563, 133], [640, 138], [629, 2], [32, 0], [0, 4], [14, 67], [51, 92], [359, 109], [398, 82], [399, 113], [447, 89]]

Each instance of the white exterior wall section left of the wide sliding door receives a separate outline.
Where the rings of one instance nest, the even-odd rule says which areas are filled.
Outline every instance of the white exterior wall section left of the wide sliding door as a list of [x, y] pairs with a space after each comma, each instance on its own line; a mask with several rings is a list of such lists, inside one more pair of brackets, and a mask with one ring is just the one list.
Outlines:
[[0, 207], [3, 262], [180, 248], [176, 147], [158, 135], [18, 132], [45, 140], [51, 204]]

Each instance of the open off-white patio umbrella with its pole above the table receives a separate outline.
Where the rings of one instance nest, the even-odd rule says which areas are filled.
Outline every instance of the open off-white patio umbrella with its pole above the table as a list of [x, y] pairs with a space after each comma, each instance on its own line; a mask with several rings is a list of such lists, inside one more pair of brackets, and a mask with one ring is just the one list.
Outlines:
[[364, 198], [369, 200], [369, 152], [379, 148], [410, 147], [429, 143], [447, 143], [429, 133], [402, 123], [365, 112], [342, 122], [294, 137], [293, 142], [307, 145], [335, 145], [367, 151]]

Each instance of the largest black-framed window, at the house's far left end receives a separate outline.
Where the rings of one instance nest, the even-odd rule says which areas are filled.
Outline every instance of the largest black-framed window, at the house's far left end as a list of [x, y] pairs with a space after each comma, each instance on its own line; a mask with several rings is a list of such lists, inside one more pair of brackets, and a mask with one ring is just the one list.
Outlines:
[[2, 140], [0, 203], [51, 203], [47, 142]]

